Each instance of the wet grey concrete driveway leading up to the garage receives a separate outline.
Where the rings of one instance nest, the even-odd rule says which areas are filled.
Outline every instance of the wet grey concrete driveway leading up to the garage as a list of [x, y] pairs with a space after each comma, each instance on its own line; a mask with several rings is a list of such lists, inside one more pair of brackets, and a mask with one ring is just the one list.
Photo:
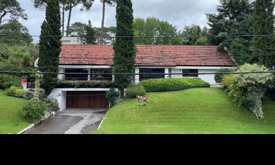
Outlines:
[[107, 109], [65, 109], [23, 134], [90, 134]]

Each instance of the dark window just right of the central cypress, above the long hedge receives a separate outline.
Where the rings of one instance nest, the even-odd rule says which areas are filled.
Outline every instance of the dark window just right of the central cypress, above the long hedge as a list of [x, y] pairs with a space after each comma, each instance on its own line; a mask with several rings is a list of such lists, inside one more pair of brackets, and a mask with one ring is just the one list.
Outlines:
[[[140, 68], [140, 81], [152, 79], [152, 78], [165, 78], [164, 71], [165, 69], [144, 69]], [[146, 74], [154, 73], [154, 74]]]

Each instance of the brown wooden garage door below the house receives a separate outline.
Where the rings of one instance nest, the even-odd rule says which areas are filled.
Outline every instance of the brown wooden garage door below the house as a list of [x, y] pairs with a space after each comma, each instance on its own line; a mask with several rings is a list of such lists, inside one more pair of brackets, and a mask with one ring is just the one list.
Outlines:
[[106, 91], [67, 91], [67, 108], [107, 109]]

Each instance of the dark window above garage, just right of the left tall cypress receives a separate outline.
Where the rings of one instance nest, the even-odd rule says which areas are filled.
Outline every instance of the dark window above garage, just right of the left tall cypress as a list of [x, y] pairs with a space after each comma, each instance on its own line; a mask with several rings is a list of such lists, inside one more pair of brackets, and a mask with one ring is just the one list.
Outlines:
[[65, 69], [65, 73], [80, 73], [80, 74], [66, 74], [65, 80], [88, 80], [87, 69]]

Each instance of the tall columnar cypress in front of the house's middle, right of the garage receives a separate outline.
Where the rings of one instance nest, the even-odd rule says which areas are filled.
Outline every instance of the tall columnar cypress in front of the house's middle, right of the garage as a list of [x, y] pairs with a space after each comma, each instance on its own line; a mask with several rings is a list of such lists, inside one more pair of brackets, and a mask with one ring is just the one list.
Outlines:
[[[133, 41], [133, 4], [131, 0], [118, 0], [116, 7], [116, 36], [113, 49], [113, 68], [115, 73], [133, 73], [135, 65], [135, 44]], [[124, 98], [124, 89], [131, 84], [131, 75], [115, 75], [115, 85], [120, 89], [120, 98]]]

